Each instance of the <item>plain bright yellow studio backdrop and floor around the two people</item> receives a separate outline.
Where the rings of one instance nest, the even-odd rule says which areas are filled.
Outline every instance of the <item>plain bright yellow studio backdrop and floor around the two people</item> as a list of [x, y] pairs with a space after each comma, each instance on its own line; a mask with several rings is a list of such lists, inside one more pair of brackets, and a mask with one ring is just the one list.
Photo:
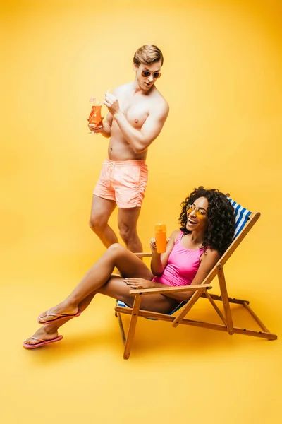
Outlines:
[[[281, 423], [281, 13], [278, 0], [1, 9], [3, 422]], [[97, 297], [61, 343], [25, 351], [37, 314], [104, 252], [88, 218], [107, 141], [88, 134], [89, 99], [133, 81], [133, 54], [147, 43], [164, 53], [157, 86], [171, 112], [149, 148], [144, 248], [154, 223], [177, 228], [180, 202], [200, 184], [260, 211], [226, 278], [278, 341], [140, 319], [124, 361], [114, 300]], [[209, 316], [204, 304], [192, 312]]]

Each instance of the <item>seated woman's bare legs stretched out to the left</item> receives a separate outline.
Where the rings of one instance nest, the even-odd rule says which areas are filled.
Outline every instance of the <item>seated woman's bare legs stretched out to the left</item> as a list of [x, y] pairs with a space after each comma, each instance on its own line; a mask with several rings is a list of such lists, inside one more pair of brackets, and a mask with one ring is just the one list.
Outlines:
[[[56, 307], [51, 308], [49, 313], [58, 314], [75, 314], [78, 309], [85, 310], [94, 298], [96, 293], [101, 293], [111, 298], [121, 299], [128, 305], [133, 305], [134, 298], [130, 296], [130, 286], [124, 283], [123, 278], [111, 278], [115, 266], [126, 277], [145, 278], [152, 280], [152, 273], [147, 266], [140, 261], [132, 252], [125, 249], [123, 246], [114, 244], [109, 247], [103, 257], [99, 259], [87, 272], [82, 281], [76, 286], [71, 295], [66, 298], [62, 303]], [[163, 295], [150, 295], [145, 296], [142, 300], [141, 307], [145, 310], [152, 310], [155, 312], [167, 312], [176, 306], [176, 301], [172, 298], [167, 298]], [[55, 317], [47, 315], [45, 312], [41, 315], [42, 323], [44, 321], [51, 321]], [[33, 335], [37, 338], [51, 340], [58, 336], [58, 329], [63, 324], [66, 324], [72, 317], [60, 319], [59, 322], [51, 322], [44, 324]], [[37, 344], [38, 342], [28, 338], [25, 343]]]

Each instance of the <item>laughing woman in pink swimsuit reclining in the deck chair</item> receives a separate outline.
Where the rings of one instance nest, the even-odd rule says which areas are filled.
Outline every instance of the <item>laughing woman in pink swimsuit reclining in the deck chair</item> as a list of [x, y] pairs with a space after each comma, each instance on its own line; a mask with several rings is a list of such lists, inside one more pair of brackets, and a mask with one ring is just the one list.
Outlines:
[[[63, 337], [58, 329], [73, 317], [78, 317], [100, 293], [123, 300], [132, 306], [130, 290], [201, 284], [223, 252], [231, 244], [235, 231], [234, 209], [226, 196], [217, 189], [195, 189], [181, 204], [180, 229], [173, 231], [166, 252], [158, 254], [152, 239], [151, 271], [138, 257], [115, 243], [92, 266], [66, 300], [39, 315], [42, 326], [27, 338], [23, 347], [39, 348]], [[121, 277], [112, 276], [117, 268]], [[171, 312], [190, 293], [144, 296], [142, 310]]]

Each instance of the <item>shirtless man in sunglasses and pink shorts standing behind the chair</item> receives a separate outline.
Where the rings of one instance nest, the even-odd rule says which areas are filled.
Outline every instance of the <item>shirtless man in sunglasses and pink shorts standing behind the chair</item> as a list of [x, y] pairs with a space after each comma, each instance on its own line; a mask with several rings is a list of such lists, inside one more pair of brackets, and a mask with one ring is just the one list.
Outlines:
[[161, 76], [164, 58], [155, 45], [144, 45], [133, 58], [135, 81], [106, 94], [109, 110], [102, 126], [89, 128], [109, 138], [108, 159], [94, 189], [90, 228], [104, 246], [118, 242], [108, 224], [118, 206], [118, 230], [131, 252], [142, 252], [137, 220], [147, 185], [145, 163], [149, 145], [161, 132], [168, 116], [168, 103], [154, 86]]

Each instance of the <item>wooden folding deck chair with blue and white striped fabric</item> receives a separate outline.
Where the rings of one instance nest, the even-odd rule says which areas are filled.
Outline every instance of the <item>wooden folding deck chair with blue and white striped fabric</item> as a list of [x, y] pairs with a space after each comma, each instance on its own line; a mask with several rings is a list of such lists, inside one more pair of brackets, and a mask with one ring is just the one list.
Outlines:
[[[228, 334], [244, 334], [245, 336], [255, 336], [266, 338], [268, 340], [276, 340], [276, 334], [271, 333], [266, 326], [262, 323], [262, 321], [257, 317], [255, 312], [250, 308], [249, 301], [229, 298], [226, 288], [226, 281], [223, 272], [223, 266], [226, 264], [226, 261], [231, 257], [235, 249], [240, 245], [240, 242], [245, 238], [247, 233], [251, 230], [251, 228], [255, 225], [257, 220], [259, 219], [260, 213], [251, 213], [247, 209], [240, 206], [235, 201], [233, 201], [229, 196], [227, 196], [229, 201], [235, 210], [235, 234], [233, 237], [233, 242], [228, 247], [226, 252], [221, 256], [219, 261], [216, 263], [212, 271], [210, 271], [209, 275], [204, 279], [202, 284], [200, 285], [182, 285], [180, 287], [164, 287], [164, 288], [147, 288], [142, 289], [138, 288], [137, 290], [130, 290], [130, 295], [134, 296], [133, 307], [128, 307], [124, 302], [118, 300], [115, 311], [116, 316], [118, 317], [118, 323], [121, 329], [121, 336], [123, 338], [124, 353], [123, 358], [128, 359], [130, 355], [130, 350], [133, 344], [133, 338], [135, 334], [135, 328], [137, 324], [138, 317], [145, 317], [149, 319], [161, 319], [166, 322], [171, 322], [173, 327], [178, 326], [179, 324], [186, 324], [191, 326], [204, 327], [207, 329], [226, 331]], [[149, 257], [151, 254], [142, 253], [137, 254], [140, 257]], [[212, 281], [217, 276], [219, 280], [219, 289], [220, 295], [214, 295], [209, 293], [208, 290], [212, 288]], [[140, 310], [140, 303], [142, 300], [142, 296], [147, 296], [152, 293], [180, 293], [185, 291], [192, 291], [193, 294], [188, 300], [188, 302], [182, 302], [177, 310], [173, 310], [171, 314], [161, 314], [158, 312], [150, 312], [145, 310]], [[212, 322], [201, 322], [195, 321], [192, 319], [185, 318], [188, 312], [191, 310], [192, 306], [195, 305], [199, 298], [205, 298], [211, 302], [214, 310], [219, 315], [222, 324], [214, 324]], [[218, 305], [216, 305], [215, 301], [222, 302], [223, 312], [219, 309]], [[235, 303], [237, 305], [242, 305], [242, 307], [250, 313], [252, 319], [257, 323], [261, 331], [255, 331], [252, 329], [239, 328], [233, 325], [233, 317], [231, 314], [231, 304]], [[180, 309], [179, 309], [180, 308]], [[123, 322], [121, 318], [121, 314], [129, 314], [130, 315], [130, 324], [128, 327], [127, 335], [125, 336], [125, 331], [123, 328]]]

